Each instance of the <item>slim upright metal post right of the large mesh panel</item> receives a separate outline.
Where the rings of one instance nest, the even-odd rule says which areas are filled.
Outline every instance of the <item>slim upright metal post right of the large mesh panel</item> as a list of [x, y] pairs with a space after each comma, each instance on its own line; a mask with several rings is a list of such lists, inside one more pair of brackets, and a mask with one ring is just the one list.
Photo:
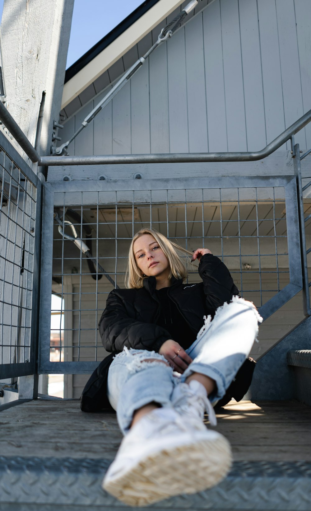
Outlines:
[[310, 316], [311, 309], [310, 309], [310, 296], [309, 296], [309, 277], [308, 277], [307, 250], [306, 250], [306, 243], [305, 243], [303, 190], [302, 190], [302, 181], [301, 181], [299, 144], [295, 145], [295, 152], [293, 153], [293, 160], [294, 160], [294, 172], [295, 172], [296, 182], [297, 182], [297, 199], [298, 199], [298, 211], [299, 211], [299, 235], [300, 235], [300, 247], [301, 247], [301, 264], [302, 264], [303, 313], [305, 316]]

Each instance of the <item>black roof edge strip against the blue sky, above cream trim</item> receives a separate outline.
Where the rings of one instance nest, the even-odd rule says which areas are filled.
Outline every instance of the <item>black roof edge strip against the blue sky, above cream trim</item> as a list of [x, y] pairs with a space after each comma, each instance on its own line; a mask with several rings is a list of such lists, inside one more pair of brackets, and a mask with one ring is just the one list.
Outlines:
[[72, 64], [65, 73], [65, 81], [68, 82], [73, 76], [75, 76], [83, 67], [85, 67], [93, 58], [97, 57], [109, 44], [111, 44], [119, 35], [123, 34], [137, 19], [145, 14], [151, 7], [157, 4], [159, 0], [146, 0], [135, 9], [127, 18], [119, 23], [109, 34], [105, 35], [103, 39], [94, 44], [94, 46], [88, 50], [80, 59]]

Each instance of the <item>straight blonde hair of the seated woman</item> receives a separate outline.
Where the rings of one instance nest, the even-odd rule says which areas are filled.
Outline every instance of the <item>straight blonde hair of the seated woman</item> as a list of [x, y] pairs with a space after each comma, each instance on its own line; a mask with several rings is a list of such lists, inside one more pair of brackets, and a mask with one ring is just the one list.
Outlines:
[[178, 252], [182, 252], [187, 255], [192, 255], [192, 252], [189, 252], [189, 250], [186, 250], [173, 241], [168, 240], [166, 236], [163, 236], [163, 234], [159, 233], [157, 230], [143, 227], [135, 234], [130, 245], [128, 268], [126, 272], [126, 287], [128, 289], [139, 289], [143, 286], [142, 282], [145, 275], [142, 274], [141, 270], [137, 266], [133, 245], [135, 241], [144, 234], [150, 234], [154, 237], [165, 257], [168, 259], [170, 265], [169, 279], [171, 280], [172, 276], [174, 276], [175, 278], [182, 278], [182, 280], [184, 280], [184, 278], [187, 277], [187, 270], [181, 262]]

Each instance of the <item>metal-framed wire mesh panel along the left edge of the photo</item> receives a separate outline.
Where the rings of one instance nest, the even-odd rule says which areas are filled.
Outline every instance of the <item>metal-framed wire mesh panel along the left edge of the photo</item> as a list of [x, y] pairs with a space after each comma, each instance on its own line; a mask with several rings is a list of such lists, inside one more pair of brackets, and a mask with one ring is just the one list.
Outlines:
[[[41, 182], [0, 133], [0, 379], [33, 374]], [[40, 224], [39, 224], [40, 225]], [[38, 234], [36, 234], [38, 230]], [[40, 240], [39, 240], [40, 241]]]

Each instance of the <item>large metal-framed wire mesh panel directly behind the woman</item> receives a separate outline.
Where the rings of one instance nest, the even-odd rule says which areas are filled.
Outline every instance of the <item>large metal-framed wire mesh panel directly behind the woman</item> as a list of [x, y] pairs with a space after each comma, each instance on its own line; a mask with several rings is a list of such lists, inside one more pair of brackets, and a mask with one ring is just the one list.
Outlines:
[[[42, 372], [87, 373], [102, 360], [98, 322], [111, 289], [125, 287], [129, 245], [141, 227], [155, 228], [190, 252], [209, 248], [264, 317], [301, 289], [291, 178], [83, 182], [83, 191], [80, 186], [45, 185], [43, 285], [61, 297], [61, 309], [52, 313], [64, 322], [50, 332], [51, 300], [42, 297]], [[200, 282], [190, 259], [183, 257], [188, 282]], [[283, 289], [282, 274], [290, 282]], [[56, 363], [51, 349], [57, 350]]]

